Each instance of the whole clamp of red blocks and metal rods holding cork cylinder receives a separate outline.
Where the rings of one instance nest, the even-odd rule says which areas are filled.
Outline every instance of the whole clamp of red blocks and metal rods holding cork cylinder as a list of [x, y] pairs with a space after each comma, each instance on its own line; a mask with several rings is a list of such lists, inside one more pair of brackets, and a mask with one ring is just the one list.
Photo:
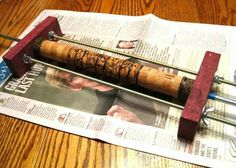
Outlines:
[[[3, 35], [1, 36], [3, 37]], [[221, 99], [226, 103], [236, 105], [236, 102], [233, 100], [222, 98], [216, 96], [214, 93], [211, 93], [212, 85], [214, 82], [222, 82], [235, 86], [235, 83], [215, 76], [215, 72], [217, 71], [218, 63], [220, 60], [220, 54], [207, 51], [198, 73], [155, 62], [156, 64], [163, 65], [168, 68], [173, 68], [179, 71], [197, 75], [196, 79], [193, 80], [187, 77], [180, 77], [175, 74], [163, 72], [161, 70], [138, 63], [133, 63], [127, 59], [114, 58], [82, 48], [76, 48], [73, 46], [55, 42], [55, 40], [58, 39], [74, 42], [62, 37], [62, 32], [57, 18], [48, 17], [43, 22], [38, 24], [23, 39], [18, 41], [18, 43], [3, 56], [3, 59], [5, 60], [11, 72], [17, 77], [21, 77], [25, 72], [27, 72], [30, 69], [32, 63], [41, 63], [51, 67], [56, 67], [49, 63], [42, 62], [38, 59], [39, 57], [44, 57], [72, 66], [78, 66], [79, 68], [92, 73], [106, 75], [108, 77], [112, 77], [126, 83], [141, 86], [153, 92], [161, 92], [173, 96], [176, 99], [180, 99], [185, 102], [184, 107], [124, 88], [119, 85], [114, 85], [112, 83], [108, 83], [106, 81], [90, 77], [88, 75], [56, 67], [64, 71], [69, 71], [71, 73], [77, 74], [84, 78], [94, 80], [96, 82], [114, 88], [132, 92], [133, 94], [141, 95], [146, 98], [156, 100], [183, 110], [179, 122], [178, 137], [190, 141], [194, 139], [199, 122], [202, 118], [210, 118], [235, 126], [235, 123], [232, 123], [229, 120], [220, 119], [208, 115], [207, 109], [205, 108], [205, 104], [208, 98]], [[124, 56], [136, 58], [131, 54], [121, 53], [116, 50], [96, 47], [88, 44], [82, 45], [87, 45], [89, 47], [95, 47], [97, 49], [102, 49], [105, 51], [115, 52]]]

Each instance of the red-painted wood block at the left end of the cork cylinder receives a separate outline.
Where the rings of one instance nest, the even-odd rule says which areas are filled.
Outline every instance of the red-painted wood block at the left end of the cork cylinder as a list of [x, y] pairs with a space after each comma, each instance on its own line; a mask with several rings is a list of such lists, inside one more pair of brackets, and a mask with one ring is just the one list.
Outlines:
[[62, 35], [56, 17], [47, 17], [3, 56], [4, 61], [14, 76], [21, 77], [30, 69], [30, 65], [24, 63], [23, 56], [26, 54], [35, 58], [32, 47], [34, 41], [39, 37], [47, 39], [49, 31]]

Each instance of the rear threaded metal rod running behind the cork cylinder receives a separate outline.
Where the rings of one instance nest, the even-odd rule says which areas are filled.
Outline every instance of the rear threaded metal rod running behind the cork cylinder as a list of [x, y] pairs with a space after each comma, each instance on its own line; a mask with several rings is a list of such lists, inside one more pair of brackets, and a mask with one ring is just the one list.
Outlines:
[[[175, 69], [175, 70], [177, 70], [177, 71], [182, 71], [182, 72], [189, 73], [189, 74], [192, 74], [192, 75], [197, 75], [197, 72], [196, 72], [196, 71], [192, 71], [192, 70], [189, 70], [189, 69], [179, 68], [179, 67], [177, 67], [177, 66], [169, 65], [169, 64], [165, 64], [165, 63], [161, 63], [161, 62], [158, 62], [158, 61], [151, 61], [151, 60], [146, 59], [146, 58], [138, 57], [138, 56], [133, 55], [133, 54], [124, 53], [124, 52], [122, 52], [122, 51], [114, 50], [114, 49], [107, 48], [107, 47], [101, 47], [101, 46], [96, 46], [96, 45], [92, 45], [92, 44], [88, 44], [88, 43], [83, 43], [83, 42], [80, 42], [80, 41], [77, 41], [77, 40], [70, 40], [70, 39], [68, 39], [68, 38], [58, 36], [58, 35], [55, 34], [53, 31], [50, 31], [50, 32], [48, 33], [48, 36], [49, 36], [49, 38], [51, 38], [51, 39], [59, 39], [59, 40], [63, 40], [63, 41], [67, 41], [67, 42], [71, 42], [71, 43], [75, 43], [75, 44], [87, 46], [87, 47], [92, 47], [92, 48], [95, 48], [95, 49], [99, 49], [99, 50], [103, 50], [103, 51], [108, 51], [108, 52], [111, 52], [111, 53], [120, 54], [120, 55], [123, 55], [123, 56], [127, 56], [127, 57], [131, 57], [131, 58], [139, 59], [139, 60], [146, 61], [146, 62], [149, 62], [149, 63], [153, 63], [153, 64], [165, 66], [165, 67], [167, 67], [167, 68], [172, 68], [172, 69]], [[231, 86], [235, 86], [235, 87], [236, 87], [236, 83], [231, 82], [231, 81], [229, 81], [229, 80], [225, 80], [225, 79], [222, 78], [222, 77], [215, 78], [215, 79], [217, 80], [217, 81], [215, 81], [215, 82], [218, 83], [218, 84], [220, 84], [220, 83], [225, 83], [225, 84], [228, 84], [228, 85], [231, 85]]]

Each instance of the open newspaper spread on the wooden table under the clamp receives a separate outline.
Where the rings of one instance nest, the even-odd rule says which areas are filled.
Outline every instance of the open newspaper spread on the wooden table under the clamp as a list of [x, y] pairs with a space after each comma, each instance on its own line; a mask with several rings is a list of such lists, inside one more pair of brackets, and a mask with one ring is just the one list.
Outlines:
[[[236, 81], [236, 49], [233, 47], [236, 27], [173, 22], [152, 14], [122, 16], [45, 10], [21, 37], [47, 16], [57, 17], [63, 34], [70, 39], [195, 71], [206, 51], [220, 53], [218, 74]], [[171, 69], [149, 66], [194, 78]], [[82, 78], [41, 64], [35, 64], [21, 78], [12, 78], [4, 61], [0, 69], [1, 114], [203, 166], [236, 166], [235, 127], [209, 121], [207, 127], [200, 125], [194, 141], [189, 143], [177, 138], [181, 111], [173, 107], [85, 79], [84, 87], [78, 86], [76, 82], [81, 82]], [[218, 94], [236, 94], [235, 88], [225, 85], [218, 86], [217, 91]], [[170, 97], [161, 96], [171, 101]], [[214, 107], [216, 115], [236, 119], [235, 107], [231, 105], [209, 100], [207, 106]]]

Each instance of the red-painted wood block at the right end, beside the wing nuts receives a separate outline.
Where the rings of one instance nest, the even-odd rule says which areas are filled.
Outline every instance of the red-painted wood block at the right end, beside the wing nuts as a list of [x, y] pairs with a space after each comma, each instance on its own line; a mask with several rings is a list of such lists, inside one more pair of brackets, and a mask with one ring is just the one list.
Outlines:
[[180, 117], [178, 137], [193, 141], [212, 88], [220, 54], [207, 51]]

